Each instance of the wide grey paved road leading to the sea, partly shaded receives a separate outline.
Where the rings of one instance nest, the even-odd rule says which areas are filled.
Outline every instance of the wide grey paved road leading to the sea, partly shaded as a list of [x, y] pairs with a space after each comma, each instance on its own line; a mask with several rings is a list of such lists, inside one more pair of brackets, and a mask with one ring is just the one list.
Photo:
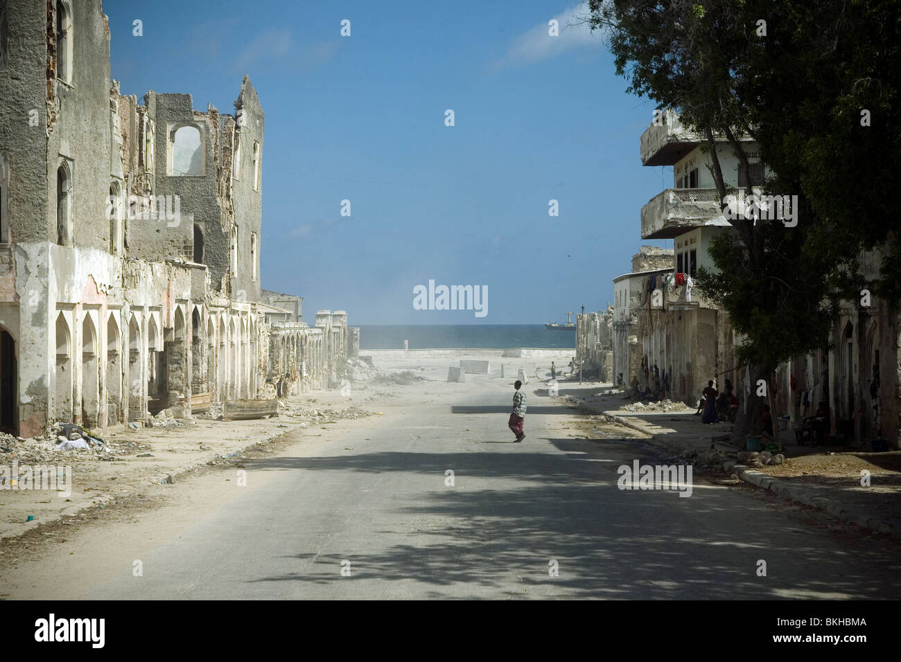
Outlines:
[[264, 486], [162, 542], [144, 576], [123, 571], [89, 596], [901, 596], [894, 552], [833, 540], [743, 491], [617, 489], [616, 468], [656, 463], [654, 451], [573, 439], [573, 411], [526, 388], [522, 444], [505, 429], [506, 380], [476, 377], [463, 399], [386, 409], [376, 429], [323, 441], [314, 457], [254, 461], [248, 479], [268, 472]]

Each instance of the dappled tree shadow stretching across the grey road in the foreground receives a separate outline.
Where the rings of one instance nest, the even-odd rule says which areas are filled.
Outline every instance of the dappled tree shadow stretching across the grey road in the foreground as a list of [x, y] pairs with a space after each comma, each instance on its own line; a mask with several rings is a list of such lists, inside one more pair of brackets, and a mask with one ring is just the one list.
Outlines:
[[[563, 452], [549, 452], [548, 444]], [[409, 475], [383, 481], [403, 485], [390, 498], [373, 496], [373, 504], [390, 515], [382, 521], [405, 525], [373, 526], [373, 543], [352, 554], [351, 577], [335, 569], [350, 553], [336, 540], [332, 549], [296, 550], [292, 558], [315, 559], [314, 569], [304, 575], [253, 581], [424, 583], [432, 586], [426, 596], [435, 597], [898, 594], [896, 575], [887, 582], [885, 572], [868, 571], [882, 563], [872, 547], [854, 549], [853, 541], [837, 546], [822, 532], [798, 531], [793, 518], [762, 501], [712, 485], [694, 485], [689, 498], [675, 491], [617, 489], [617, 467], [644, 458], [639, 449], [540, 437], [513, 446], [503, 451], [377, 450], [253, 461], [248, 468], [254, 471], [298, 470], [297, 480], [304, 480], [305, 472], [335, 472], [336, 480], [349, 471]], [[445, 485], [446, 469], [454, 471], [454, 486]], [[379, 518], [373, 516], [373, 521]], [[384, 540], [405, 536], [405, 542], [380, 549], [382, 534]], [[768, 564], [768, 576], [756, 574], [760, 559]], [[549, 574], [555, 562], [559, 576]], [[453, 590], [447, 590], [451, 585]]]

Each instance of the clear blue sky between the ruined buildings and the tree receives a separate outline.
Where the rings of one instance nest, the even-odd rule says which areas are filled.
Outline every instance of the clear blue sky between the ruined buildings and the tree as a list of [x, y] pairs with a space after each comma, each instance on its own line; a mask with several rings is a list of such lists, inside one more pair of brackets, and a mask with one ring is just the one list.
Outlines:
[[[639, 159], [653, 105], [625, 94], [599, 37], [569, 26], [573, 2], [107, 0], [104, 11], [123, 94], [188, 93], [197, 110], [233, 113], [250, 75], [266, 113], [262, 285], [305, 296], [311, 323], [320, 308], [354, 325], [598, 310], [641, 244], [642, 204], [671, 182]], [[487, 286], [487, 316], [414, 310], [414, 286], [430, 279]]]

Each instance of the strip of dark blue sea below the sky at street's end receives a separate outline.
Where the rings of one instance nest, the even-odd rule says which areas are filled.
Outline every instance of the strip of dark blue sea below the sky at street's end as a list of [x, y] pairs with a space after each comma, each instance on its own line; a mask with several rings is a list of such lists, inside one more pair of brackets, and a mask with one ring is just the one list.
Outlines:
[[549, 331], [544, 324], [364, 324], [359, 349], [573, 349], [576, 331]]

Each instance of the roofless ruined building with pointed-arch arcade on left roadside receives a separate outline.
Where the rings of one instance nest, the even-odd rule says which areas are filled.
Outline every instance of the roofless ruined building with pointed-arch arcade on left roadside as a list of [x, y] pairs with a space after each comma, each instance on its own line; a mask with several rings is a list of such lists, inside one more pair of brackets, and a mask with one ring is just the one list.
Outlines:
[[103, 430], [331, 384], [346, 313], [309, 326], [300, 297], [260, 290], [250, 78], [233, 115], [139, 104], [109, 44], [101, 0], [0, 0], [0, 428]]

